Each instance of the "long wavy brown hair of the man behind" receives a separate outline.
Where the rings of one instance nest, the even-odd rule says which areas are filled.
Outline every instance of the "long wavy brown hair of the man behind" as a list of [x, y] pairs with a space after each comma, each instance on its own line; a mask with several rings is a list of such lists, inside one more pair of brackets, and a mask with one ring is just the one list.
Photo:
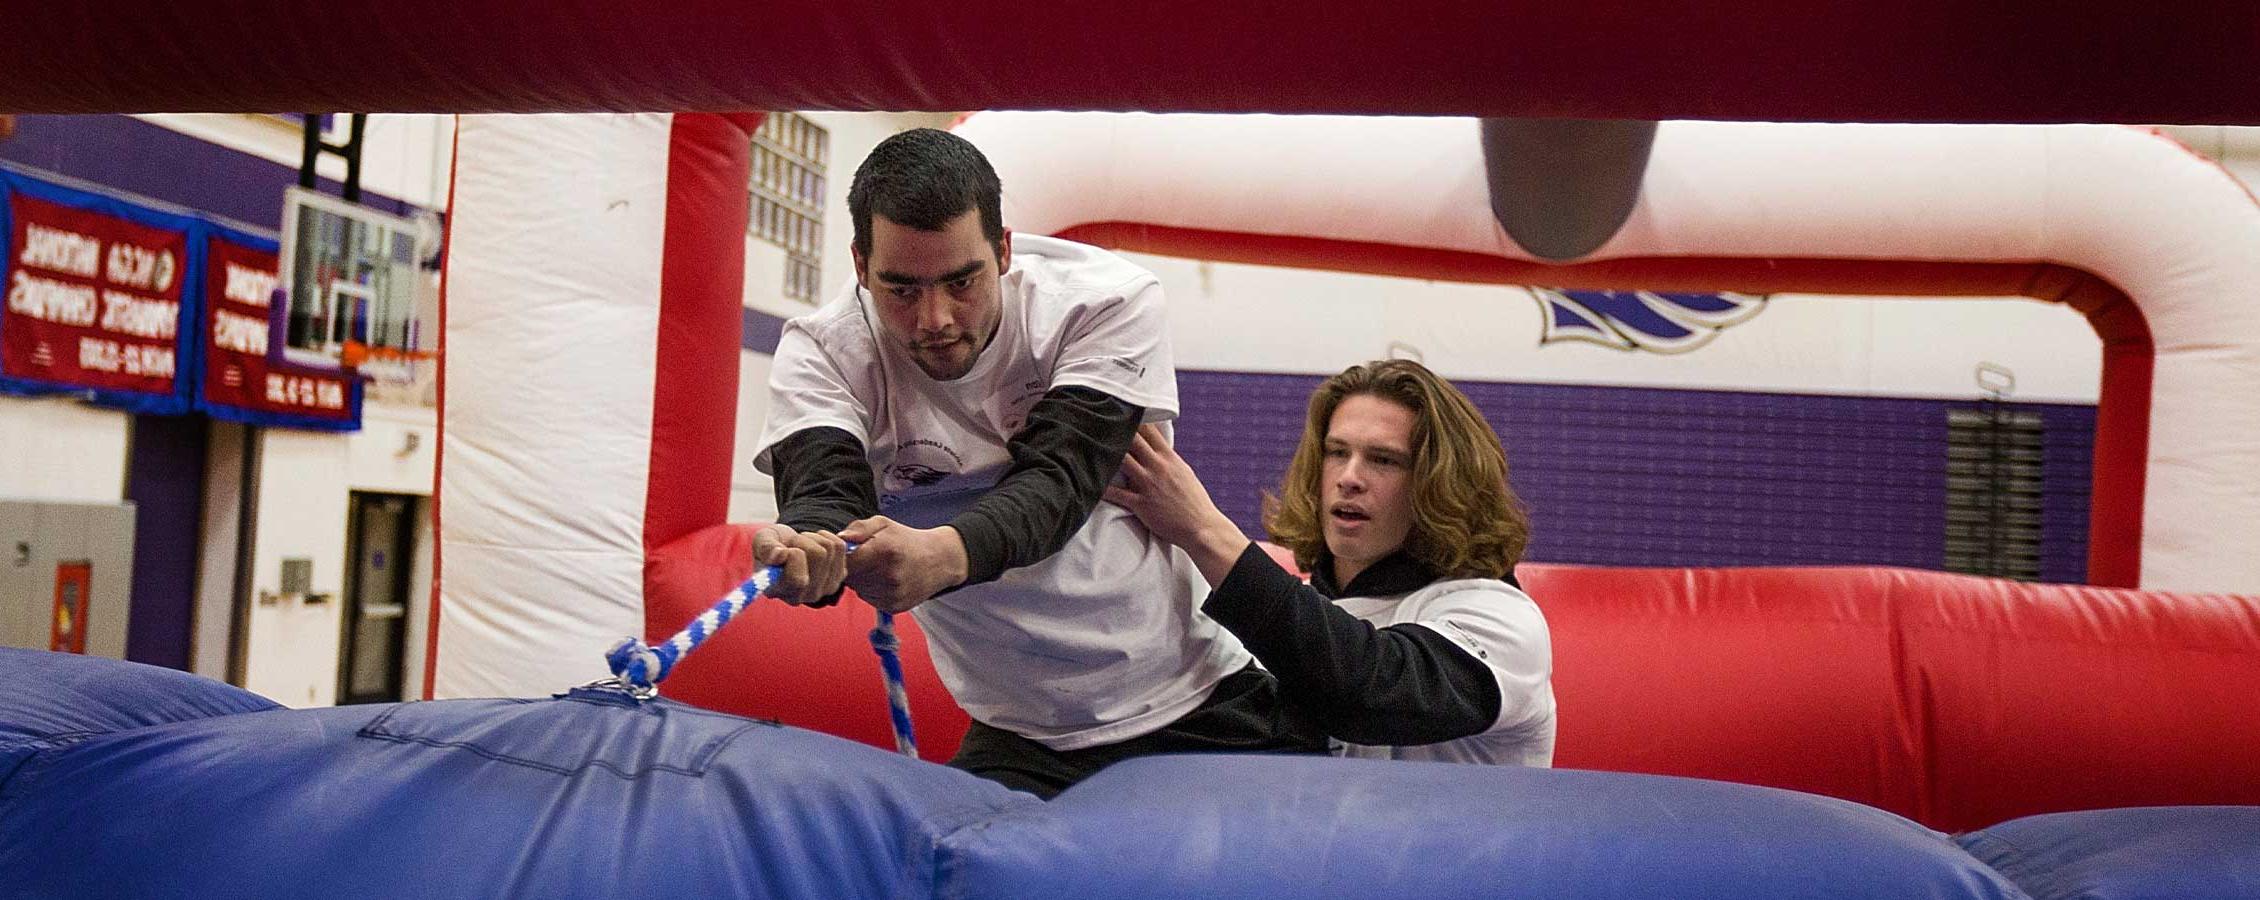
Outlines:
[[1272, 543], [1295, 552], [1304, 572], [1327, 549], [1322, 484], [1327, 427], [1351, 396], [1374, 396], [1412, 412], [1412, 531], [1406, 552], [1444, 577], [1498, 579], [1514, 572], [1530, 543], [1530, 513], [1507, 484], [1507, 452], [1458, 387], [1412, 360], [1342, 369], [1311, 393], [1302, 443], [1277, 495], [1263, 497]]

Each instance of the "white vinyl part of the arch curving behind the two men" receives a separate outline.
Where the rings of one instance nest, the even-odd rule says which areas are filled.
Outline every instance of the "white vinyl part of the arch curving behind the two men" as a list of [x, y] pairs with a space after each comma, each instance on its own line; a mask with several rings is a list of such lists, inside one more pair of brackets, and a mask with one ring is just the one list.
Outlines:
[[[1492, 222], [1476, 120], [979, 113], [1006, 222], [1123, 222], [1528, 260]], [[1281, 165], [1293, 161], [1293, 165]], [[2260, 204], [2131, 127], [1666, 122], [1591, 260], [2054, 262], [2142, 310], [2140, 583], [2260, 590]]]

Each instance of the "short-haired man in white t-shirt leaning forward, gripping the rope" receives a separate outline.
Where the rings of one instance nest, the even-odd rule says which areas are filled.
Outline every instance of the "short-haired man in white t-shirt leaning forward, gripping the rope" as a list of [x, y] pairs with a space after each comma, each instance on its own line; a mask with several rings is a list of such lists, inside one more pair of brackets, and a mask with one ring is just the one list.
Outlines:
[[[1200, 572], [1098, 504], [1141, 423], [1177, 414], [1162, 285], [1012, 235], [988, 161], [897, 133], [854, 174], [857, 285], [786, 323], [755, 466], [777, 595], [841, 583], [918, 611], [974, 717], [951, 764], [1040, 796], [1173, 751], [1324, 751], [1198, 608]], [[845, 554], [845, 543], [857, 552]]]

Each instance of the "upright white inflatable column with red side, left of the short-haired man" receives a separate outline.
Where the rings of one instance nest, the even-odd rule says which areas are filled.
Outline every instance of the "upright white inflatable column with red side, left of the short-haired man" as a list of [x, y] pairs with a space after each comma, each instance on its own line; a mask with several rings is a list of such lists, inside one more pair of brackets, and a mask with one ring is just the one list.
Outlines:
[[721, 115], [461, 120], [427, 696], [608, 674], [646, 549], [723, 520], [746, 156]]

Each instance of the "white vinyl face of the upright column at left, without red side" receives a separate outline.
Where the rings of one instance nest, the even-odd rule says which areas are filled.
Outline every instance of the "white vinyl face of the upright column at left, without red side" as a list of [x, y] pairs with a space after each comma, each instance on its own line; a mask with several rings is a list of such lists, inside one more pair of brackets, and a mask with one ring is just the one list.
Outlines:
[[671, 120], [461, 120], [434, 696], [558, 692], [642, 635]]

